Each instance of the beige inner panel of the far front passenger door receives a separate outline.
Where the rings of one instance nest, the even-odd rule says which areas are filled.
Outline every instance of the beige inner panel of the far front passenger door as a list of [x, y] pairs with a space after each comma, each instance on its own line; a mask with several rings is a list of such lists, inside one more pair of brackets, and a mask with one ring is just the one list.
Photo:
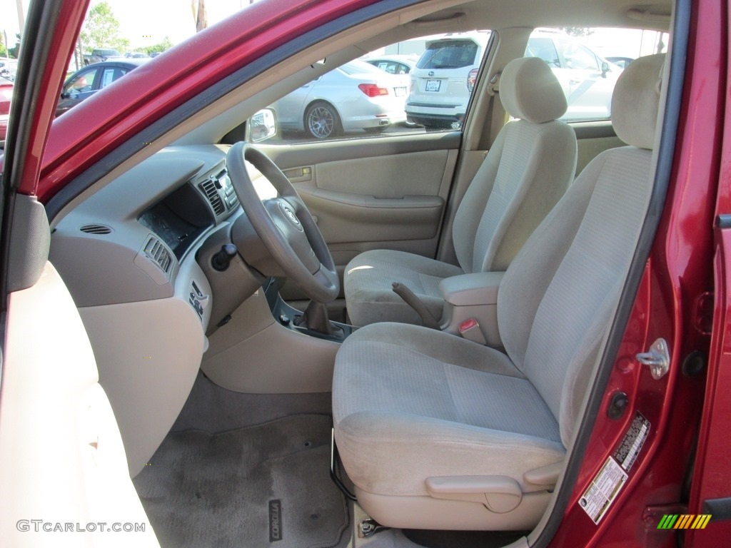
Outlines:
[[[259, 145], [295, 185], [338, 272], [368, 249], [433, 257], [461, 133]], [[289, 284], [284, 298], [300, 295]]]

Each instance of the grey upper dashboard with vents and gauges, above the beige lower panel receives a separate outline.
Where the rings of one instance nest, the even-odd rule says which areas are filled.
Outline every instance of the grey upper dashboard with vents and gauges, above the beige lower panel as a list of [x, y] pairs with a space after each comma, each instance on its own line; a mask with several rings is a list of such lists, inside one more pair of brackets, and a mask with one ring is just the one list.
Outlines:
[[[50, 261], [80, 308], [185, 298], [204, 323], [200, 244], [238, 208], [227, 146], [168, 147], [78, 205], [51, 235]], [[178, 278], [188, 280], [179, 284]], [[183, 290], [176, 289], [183, 285]]]

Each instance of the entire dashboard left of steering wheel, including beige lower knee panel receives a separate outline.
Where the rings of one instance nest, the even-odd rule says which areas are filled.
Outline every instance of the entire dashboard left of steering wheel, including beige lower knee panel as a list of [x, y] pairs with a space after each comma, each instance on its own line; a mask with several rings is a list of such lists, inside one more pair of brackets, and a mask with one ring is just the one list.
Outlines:
[[164, 148], [54, 220], [50, 262], [86, 327], [132, 476], [189, 396], [206, 334], [261, 283], [238, 257], [208, 271], [242, 215], [227, 151]]

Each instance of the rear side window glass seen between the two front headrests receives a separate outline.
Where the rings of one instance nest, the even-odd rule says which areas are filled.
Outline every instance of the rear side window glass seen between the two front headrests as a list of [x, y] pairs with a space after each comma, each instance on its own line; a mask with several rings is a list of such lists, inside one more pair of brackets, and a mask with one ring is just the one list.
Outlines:
[[545, 61], [564, 91], [568, 122], [608, 120], [624, 66], [667, 49], [667, 33], [637, 28], [537, 28], [526, 57]]

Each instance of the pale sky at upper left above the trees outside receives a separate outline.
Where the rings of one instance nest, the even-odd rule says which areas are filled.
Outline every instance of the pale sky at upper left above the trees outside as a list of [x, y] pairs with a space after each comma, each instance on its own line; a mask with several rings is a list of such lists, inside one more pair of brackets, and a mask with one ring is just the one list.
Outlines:
[[[18, 32], [18, 2], [28, 9], [30, 0], [0, 1], [0, 32], [5, 31], [10, 45], [15, 44]], [[170, 37], [174, 44], [195, 34], [191, 0], [107, 0], [121, 25], [121, 34], [129, 39], [132, 48], [153, 45]], [[98, 0], [91, 0], [90, 5]], [[206, 0], [208, 25], [227, 18], [249, 0]]]

